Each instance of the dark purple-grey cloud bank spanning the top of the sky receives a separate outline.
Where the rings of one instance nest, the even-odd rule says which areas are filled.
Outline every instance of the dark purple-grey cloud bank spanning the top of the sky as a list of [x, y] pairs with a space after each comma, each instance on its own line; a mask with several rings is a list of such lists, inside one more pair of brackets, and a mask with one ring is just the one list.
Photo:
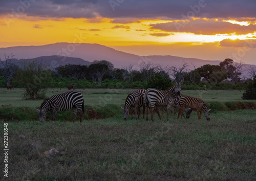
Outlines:
[[1, 1], [0, 14], [24, 13], [41, 17], [182, 19], [255, 18], [255, 0], [24, 0]]

